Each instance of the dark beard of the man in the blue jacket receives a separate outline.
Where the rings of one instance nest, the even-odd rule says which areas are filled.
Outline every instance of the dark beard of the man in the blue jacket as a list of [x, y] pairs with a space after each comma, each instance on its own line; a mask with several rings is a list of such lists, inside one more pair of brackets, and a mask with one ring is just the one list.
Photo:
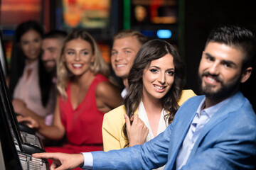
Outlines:
[[[223, 80], [218, 77], [218, 75], [213, 75], [210, 74], [209, 72], [203, 72], [202, 75], [198, 74], [199, 76], [199, 84], [200, 84], [200, 89], [201, 93], [205, 94], [207, 98], [211, 98], [213, 100], [223, 100], [225, 98], [228, 98], [235, 94], [236, 91], [238, 91], [238, 88], [240, 86], [240, 78], [241, 74], [239, 77], [236, 77], [233, 81], [228, 82], [228, 84], [224, 84]], [[220, 88], [217, 89], [216, 91], [213, 91], [213, 85], [211, 84], [205, 84], [203, 86], [203, 77], [210, 75], [211, 77], [214, 77], [219, 83], [220, 83]]]

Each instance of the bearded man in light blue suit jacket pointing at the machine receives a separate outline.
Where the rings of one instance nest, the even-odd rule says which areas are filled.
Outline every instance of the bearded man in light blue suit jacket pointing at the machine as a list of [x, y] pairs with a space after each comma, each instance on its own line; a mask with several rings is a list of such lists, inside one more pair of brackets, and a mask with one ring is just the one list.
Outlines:
[[35, 154], [63, 169], [255, 169], [256, 115], [239, 90], [252, 72], [255, 36], [220, 26], [208, 36], [198, 75], [203, 96], [188, 99], [153, 140], [121, 150]]

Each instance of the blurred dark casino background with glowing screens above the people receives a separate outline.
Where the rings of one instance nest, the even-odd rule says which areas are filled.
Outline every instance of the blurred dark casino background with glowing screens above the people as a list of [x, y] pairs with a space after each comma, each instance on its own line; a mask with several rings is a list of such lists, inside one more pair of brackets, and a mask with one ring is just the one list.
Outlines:
[[[149, 39], [161, 38], [178, 48], [186, 62], [186, 88], [200, 94], [197, 69], [210, 29], [233, 23], [256, 33], [255, 9], [255, 0], [1, 0], [0, 29], [7, 63], [14, 29], [28, 19], [42, 23], [46, 32], [87, 29], [107, 62], [112, 35], [122, 29], [139, 30]], [[255, 72], [250, 84], [255, 85]], [[245, 90], [245, 94], [256, 94], [255, 89]]]

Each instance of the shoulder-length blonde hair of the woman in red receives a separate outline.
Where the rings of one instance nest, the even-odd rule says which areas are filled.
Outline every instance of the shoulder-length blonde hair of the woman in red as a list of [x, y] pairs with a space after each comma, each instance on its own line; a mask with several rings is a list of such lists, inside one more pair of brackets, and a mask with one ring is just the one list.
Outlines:
[[57, 61], [57, 89], [60, 93], [60, 95], [63, 98], [68, 98], [68, 95], [66, 93], [66, 89], [68, 86], [68, 82], [72, 79], [73, 74], [68, 70], [66, 67], [66, 64], [63, 60], [63, 55], [65, 51], [65, 45], [70, 42], [70, 40], [75, 39], [82, 39], [90, 43], [92, 47], [92, 54], [95, 55], [95, 61], [90, 64], [90, 70], [96, 75], [96, 74], [102, 74], [105, 77], [109, 76], [110, 68], [103, 59], [100, 49], [95, 41], [94, 38], [92, 38], [92, 35], [87, 33], [85, 30], [73, 30], [68, 37], [63, 42], [63, 47], [61, 50], [60, 55], [58, 56]]

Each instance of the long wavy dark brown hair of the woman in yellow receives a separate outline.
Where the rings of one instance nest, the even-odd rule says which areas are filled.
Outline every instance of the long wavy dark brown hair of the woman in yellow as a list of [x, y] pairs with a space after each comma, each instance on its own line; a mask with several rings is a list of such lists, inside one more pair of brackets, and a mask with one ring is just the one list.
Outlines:
[[[175, 74], [174, 83], [168, 93], [161, 98], [161, 103], [164, 110], [168, 112], [165, 116], [165, 120], [168, 120], [168, 123], [170, 124], [174, 119], [174, 115], [179, 108], [177, 101], [181, 97], [186, 69], [176, 49], [164, 40], [150, 40], [149, 42], [146, 42], [142, 45], [134, 59], [132, 69], [127, 78], [129, 89], [127, 91], [127, 96], [124, 98], [124, 106], [129, 118], [132, 118], [132, 115], [134, 115], [134, 112], [137, 110], [139, 103], [142, 100], [142, 76], [144, 69], [149, 67], [152, 60], [157, 60], [164, 57], [166, 54], [170, 54], [174, 57]], [[124, 138], [128, 140], [126, 124], [124, 124], [122, 131]], [[129, 142], [124, 147], [127, 147], [128, 145]]]

